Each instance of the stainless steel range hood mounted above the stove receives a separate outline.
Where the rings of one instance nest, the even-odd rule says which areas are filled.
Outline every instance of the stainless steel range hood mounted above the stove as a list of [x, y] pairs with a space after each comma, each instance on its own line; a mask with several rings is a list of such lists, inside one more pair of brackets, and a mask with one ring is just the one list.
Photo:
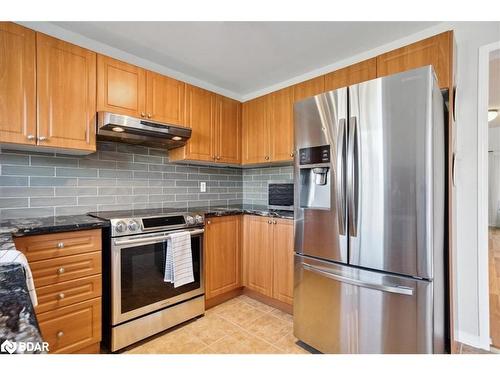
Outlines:
[[97, 113], [97, 139], [172, 149], [182, 147], [191, 137], [191, 129], [158, 121]]

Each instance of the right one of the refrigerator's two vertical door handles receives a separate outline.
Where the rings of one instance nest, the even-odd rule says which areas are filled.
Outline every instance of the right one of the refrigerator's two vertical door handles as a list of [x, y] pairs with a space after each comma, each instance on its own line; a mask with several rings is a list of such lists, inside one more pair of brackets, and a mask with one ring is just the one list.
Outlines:
[[358, 147], [358, 121], [355, 116], [349, 118], [349, 144], [347, 147], [347, 200], [348, 200], [348, 220], [349, 235], [358, 235], [358, 199], [359, 199], [359, 147]]

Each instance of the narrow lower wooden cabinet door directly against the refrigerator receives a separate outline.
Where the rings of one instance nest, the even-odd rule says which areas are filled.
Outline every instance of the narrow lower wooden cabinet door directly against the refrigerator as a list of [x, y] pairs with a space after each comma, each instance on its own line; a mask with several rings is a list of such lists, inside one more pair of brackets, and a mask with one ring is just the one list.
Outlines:
[[273, 220], [273, 297], [293, 303], [293, 220]]

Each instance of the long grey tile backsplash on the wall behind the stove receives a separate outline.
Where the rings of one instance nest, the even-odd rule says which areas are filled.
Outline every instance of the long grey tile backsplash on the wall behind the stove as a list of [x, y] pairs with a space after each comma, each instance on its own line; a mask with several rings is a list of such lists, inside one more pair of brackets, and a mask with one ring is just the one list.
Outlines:
[[242, 169], [173, 164], [164, 150], [123, 143], [97, 148], [86, 156], [1, 149], [0, 217], [243, 201]]

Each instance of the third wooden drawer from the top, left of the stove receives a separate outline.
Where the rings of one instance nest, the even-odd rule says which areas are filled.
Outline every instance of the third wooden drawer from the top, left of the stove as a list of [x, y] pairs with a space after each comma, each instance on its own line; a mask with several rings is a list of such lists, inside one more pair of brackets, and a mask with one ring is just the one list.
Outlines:
[[82, 277], [36, 289], [37, 314], [101, 296], [101, 275]]

